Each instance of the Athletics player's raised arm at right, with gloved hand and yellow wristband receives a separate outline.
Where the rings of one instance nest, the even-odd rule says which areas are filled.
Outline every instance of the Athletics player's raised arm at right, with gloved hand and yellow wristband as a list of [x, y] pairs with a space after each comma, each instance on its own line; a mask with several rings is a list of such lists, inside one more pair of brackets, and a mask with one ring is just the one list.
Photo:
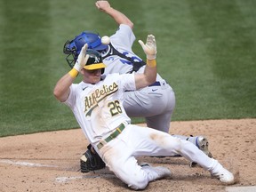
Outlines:
[[147, 55], [147, 65], [143, 74], [135, 75], [136, 89], [146, 87], [149, 84], [156, 82], [156, 38], [153, 35], [148, 35], [147, 43], [144, 44], [141, 40], [139, 43]]

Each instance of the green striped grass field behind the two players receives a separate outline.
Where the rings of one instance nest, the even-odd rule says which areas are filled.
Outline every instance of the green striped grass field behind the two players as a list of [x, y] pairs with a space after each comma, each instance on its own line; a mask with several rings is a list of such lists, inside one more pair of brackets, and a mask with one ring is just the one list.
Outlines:
[[[0, 137], [78, 127], [52, 90], [69, 70], [68, 39], [116, 30], [94, 2], [0, 1]], [[255, 1], [111, 4], [133, 21], [137, 40], [156, 36], [158, 71], [176, 94], [173, 121], [256, 117]], [[133, 51], [144, 57], [137, 40]]]

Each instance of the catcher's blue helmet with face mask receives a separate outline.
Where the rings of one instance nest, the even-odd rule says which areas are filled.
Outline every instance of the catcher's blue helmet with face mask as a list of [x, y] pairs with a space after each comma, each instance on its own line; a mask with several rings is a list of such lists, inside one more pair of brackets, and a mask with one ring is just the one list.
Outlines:
[[79, 53], [81, 52], [84, 44], [88, 44], [88, 49], [96, 51], [106, 50], [108, 45], [102, 44], [99, 34], [95, 34], [90, 31], [84, 31], [80, 35], [76, 36], [73, 40], [67, 41], [64, 44], [63, 52], [68, 54], [66, 60], [70, 68], [73, 68]]

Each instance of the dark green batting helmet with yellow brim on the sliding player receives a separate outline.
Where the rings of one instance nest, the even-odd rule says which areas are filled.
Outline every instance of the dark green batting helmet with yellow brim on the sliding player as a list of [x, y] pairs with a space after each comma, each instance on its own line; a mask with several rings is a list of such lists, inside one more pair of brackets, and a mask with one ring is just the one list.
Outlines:
[[89, 59], [87, 60], [84, 68], [87, 70], [94, 70], [94, 69], [101, 68], [101, 74], [103, 74], [107, 66], [102, 62], [100, 52], [97, 52], [92, 49], [88, 49], [86, 51], [86, 54], [89, 55]]

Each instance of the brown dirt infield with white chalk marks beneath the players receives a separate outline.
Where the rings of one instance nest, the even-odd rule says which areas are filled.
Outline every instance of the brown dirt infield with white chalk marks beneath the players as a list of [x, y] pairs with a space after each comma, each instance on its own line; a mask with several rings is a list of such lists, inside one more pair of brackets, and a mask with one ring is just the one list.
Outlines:
[[[172, 122], [171, 133], [203, 134], [212, 155], [231, 172], [237, 187], [256, 186], [256, 119]], [[88, 142], [80, 129], [0, 138], [0, 191], [131, 191], [107, 169], [83, 174], [79, 158]], [[151, 182], [146, 191], [227, 191], [183, 157], [140, 157], [172, 170], [172, 179]], [[234, 187], [233, 186], [233, 187]]]

